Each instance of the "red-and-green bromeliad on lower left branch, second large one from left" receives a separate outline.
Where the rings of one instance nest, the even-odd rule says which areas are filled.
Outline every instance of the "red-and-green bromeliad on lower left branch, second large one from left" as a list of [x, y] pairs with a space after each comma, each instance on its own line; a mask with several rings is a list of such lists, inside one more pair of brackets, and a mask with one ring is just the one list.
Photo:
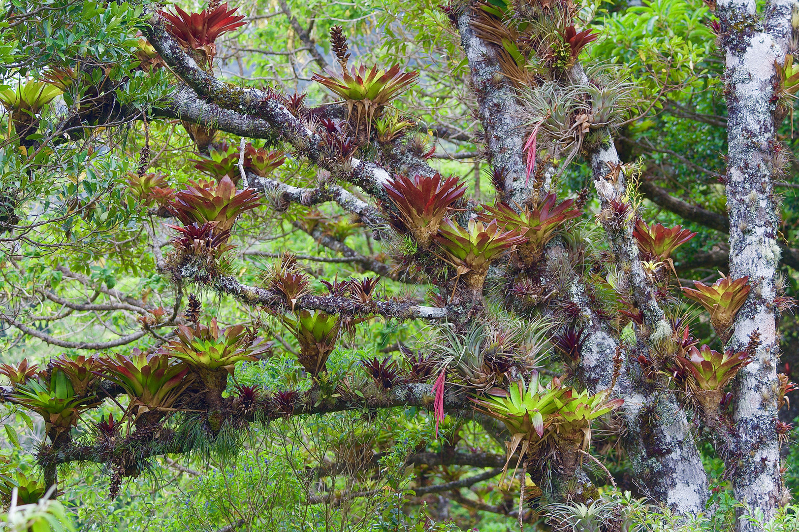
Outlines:
[[113, 354], [98, 361], [101, 375], [122, 386], [130, 396], [128, 411], [137, 426], [160, 421], [192, 382], [185, 363], [137, 347], [130, 354]]

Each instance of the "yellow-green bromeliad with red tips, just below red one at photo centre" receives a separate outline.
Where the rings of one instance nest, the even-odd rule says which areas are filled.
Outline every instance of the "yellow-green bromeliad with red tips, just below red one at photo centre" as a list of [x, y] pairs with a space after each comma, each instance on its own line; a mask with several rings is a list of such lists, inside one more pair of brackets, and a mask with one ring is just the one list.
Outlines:
[[435, 242], [441, 246], [449, 262], [459, 269], [459, 274], [463, 272], [466, 286], [476, 291], [482, 289], [491, 262], [527, 242], [527, 237], [523, 231], [499, 229], [496, 220], [486, 225], [471, 219], [464, 229], [446, 218]]

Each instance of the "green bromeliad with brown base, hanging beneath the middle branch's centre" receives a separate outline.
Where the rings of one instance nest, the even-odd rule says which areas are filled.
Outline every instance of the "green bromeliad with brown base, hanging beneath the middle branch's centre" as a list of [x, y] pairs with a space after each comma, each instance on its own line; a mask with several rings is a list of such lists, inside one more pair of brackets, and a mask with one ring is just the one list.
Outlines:
[[297, 360], [316, 377], [327, 371], [326, 362], [336, 347], [341, 325], [339, 317], [322, 310], [301, 310], [299, 313], [286, 313], [283, 322], [300, 342], [300, 356]]

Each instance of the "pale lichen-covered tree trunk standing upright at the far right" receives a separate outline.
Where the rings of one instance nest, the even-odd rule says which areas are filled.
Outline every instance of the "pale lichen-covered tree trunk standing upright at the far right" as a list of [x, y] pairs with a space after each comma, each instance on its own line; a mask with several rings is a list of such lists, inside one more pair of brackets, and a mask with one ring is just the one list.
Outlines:
[[[757, 14], [755, 2], [721, 0], [726, 54], [728, 122], [726, 194], [729, 274], [749, 276], [752, 290], [737, 314], [729, 348], [743, 350], [757, 331], [761, 344], [733, 382], [733, 449], [727, 461], [735, 498], [773, 515], [783, 490], [777, 423], [777, 315], [780, 214], [774, 178], [780, 166], [775, 121], [781, 90], [776, 63], [785, 61], [793, 2], [773, 2]], [[738, 530], [759, 530], [739, 520]]]

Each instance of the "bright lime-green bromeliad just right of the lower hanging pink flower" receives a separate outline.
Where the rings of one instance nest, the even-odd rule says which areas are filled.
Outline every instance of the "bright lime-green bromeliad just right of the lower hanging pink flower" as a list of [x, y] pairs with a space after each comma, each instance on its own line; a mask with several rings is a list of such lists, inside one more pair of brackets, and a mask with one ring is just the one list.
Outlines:
[[547, 388], [541, 385], [539, 373], [534, 370], [529, 386], [519, 380], [511, 384], [508, 392], [495, 388], [489, 391], [487, 398], [471, 399], [477, 405], [475, 410], [499, 419], [511, 433], [511, 442], [506, 444], [507, 459], [503, 475], [507, 472], [511, 456], [519, 446], [519, 462], [528, 453], [535, 456], [535, 452], [552, 433], [553, 424], [560, 416], [559, 411], [570, 400], [570, 396], [566, 394], [569, 391], [562, 386]]

